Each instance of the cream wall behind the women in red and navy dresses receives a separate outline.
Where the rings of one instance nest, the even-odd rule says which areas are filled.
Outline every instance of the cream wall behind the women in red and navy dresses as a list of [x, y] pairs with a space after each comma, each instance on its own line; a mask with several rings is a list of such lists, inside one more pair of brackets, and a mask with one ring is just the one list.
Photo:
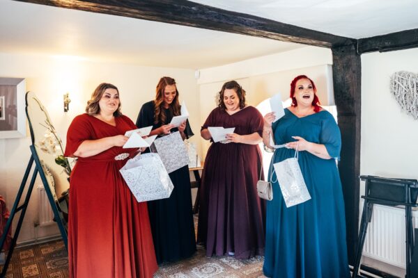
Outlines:
[[[82, 58], [22, 56], [0, 53], [0, 76], [23, 77], [26, 90], [38, 95], [59, 132], [64, 145], [68, 126], [75, 115], [84, 113], [91, 92], [102, 82], [114, 83], [121, 93], [122, 111], [136, 121], [141, 105], [155, 96], [161, 76], [172, 76], [178, 83], [180, 101], [185, 100], [192, 129], [199, 134], [198, 88], [194, 70], [141, 67], [112, 63], [94, 63]], [[70, 111], [63, 112], [63, 93], [70, 92]], [[200, 144], [199, 135], [192, 142]], [[0, 195], [13, 206], [17, 190], [29, 161], [29, 131], [26, 138], [0, 139]], [[200, 145], [199, 145], [200, 147]], [[36, 182], [36, 185], [40, 180]], [[18, 243], [59, 234], [55, 225], [35, 228], [38, 221], [38, 191], [31, 196]], [[13, 224], [17, 223], [17, 220]]]

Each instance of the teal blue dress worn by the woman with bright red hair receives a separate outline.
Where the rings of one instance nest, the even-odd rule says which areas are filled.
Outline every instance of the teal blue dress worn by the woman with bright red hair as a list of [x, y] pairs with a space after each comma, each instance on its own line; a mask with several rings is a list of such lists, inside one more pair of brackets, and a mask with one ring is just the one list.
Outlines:
[[[273, 199], [267, 202], [264, 275], [274, 278], [350, 277], [346, 245], [343, 193], [336, 159], [341, 133], [334, 117], [320, 111], [297, 117], [287, 108], [272, 125], [276, 145], [300, 136], [323, 144], [331, 159], [299, 152], [299, 165], [311, 199], [286, 208], [277, 182]], [[294, 149], [276, 149], [273, 163], [295, 155]], [[276, 180], [272, 174], [273, 181]], [[271, 181], [271, 178], [269, 180]]]

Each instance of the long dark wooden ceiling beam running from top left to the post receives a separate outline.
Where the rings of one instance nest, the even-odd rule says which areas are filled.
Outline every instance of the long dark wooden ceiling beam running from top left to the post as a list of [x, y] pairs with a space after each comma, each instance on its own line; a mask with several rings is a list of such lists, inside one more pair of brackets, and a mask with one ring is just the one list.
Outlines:
[[274, 20], [235, 13], [185, 0], [17, 0], [47, 6], [85, 10], [93, 13], [120, 15], [169, 24], [179, 24], [229, 33], [252, 35], [284, 42], [297, 42], [318, 47], [355, 44], [352, 38], [331, 35]]

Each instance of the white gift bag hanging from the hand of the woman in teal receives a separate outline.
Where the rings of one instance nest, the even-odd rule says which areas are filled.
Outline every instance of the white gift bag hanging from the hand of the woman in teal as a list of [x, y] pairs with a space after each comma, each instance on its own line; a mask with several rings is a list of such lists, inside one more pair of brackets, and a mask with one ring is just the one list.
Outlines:
[[281, 195], [283, 195], [284, 202], [288, 208], [311, 199], [300, 171], [299, 163], [297, 163], [298, 154], [296, 147], [295, 157], [273, 164], [277, 181], [279, 181]]

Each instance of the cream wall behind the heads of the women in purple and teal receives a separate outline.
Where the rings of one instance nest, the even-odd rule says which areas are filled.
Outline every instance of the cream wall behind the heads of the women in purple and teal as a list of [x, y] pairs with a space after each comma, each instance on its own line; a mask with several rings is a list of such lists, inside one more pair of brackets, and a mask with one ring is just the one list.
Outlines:
[[[201, 123], [216, 107], [215, 97], [225, 81], [235, 80], [246, 90], [246, 101], [257, 106], [261, 101], [281, 92], [282, 100], [288, 98], [290, 83], [298, 74], [307, 74], [317, 85], [320, 99], [327, 104], [327, 94], [332, 88], [332, 53], [322, 47], [303, 47], [238, 63], [200, 70], [199, 94]], [[329, 83], [328, 81], [331, 81]], [[201, 154], [206, 157], [210, 142], [201, 139]]]

